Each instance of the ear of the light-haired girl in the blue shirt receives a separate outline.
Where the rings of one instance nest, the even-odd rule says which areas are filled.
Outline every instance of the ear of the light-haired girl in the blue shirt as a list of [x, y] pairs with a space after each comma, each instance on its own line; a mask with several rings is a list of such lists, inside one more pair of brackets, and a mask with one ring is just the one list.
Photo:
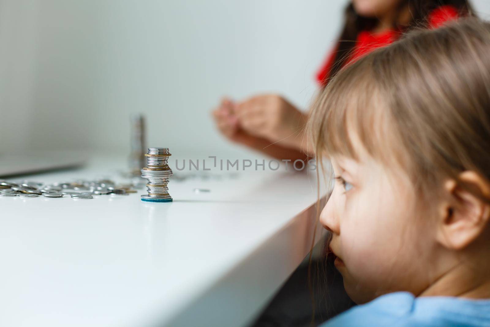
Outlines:
[[441, 205], [436, 237], [444, 247], [461, 250], [489, 226], [490, 201], [485, 199], [490, 199], [490, 184], [477, 173], [465, 171], [458, 182], [446, 181], [444, 192], [449, 200]]

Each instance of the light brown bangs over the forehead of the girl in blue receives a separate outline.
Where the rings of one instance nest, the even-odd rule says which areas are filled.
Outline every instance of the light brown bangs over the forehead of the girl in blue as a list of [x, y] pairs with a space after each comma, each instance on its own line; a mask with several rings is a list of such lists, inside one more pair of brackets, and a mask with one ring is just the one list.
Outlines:
[[343, 69], [319, 96], [310, 119], [317, 157], [360, 160], [365, 153], [381, 159], [386, 153], [393, 131], [388, 130], [389, 110], [380, 110], [387, 105], [382, 88], [372, 75], [372, 56], [368, 55]]

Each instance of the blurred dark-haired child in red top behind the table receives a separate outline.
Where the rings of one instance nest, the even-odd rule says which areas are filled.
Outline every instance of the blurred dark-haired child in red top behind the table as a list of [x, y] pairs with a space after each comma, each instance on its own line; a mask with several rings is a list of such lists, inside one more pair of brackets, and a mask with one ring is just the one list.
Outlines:
[[[471, 12], [467, 0], [352, 0], [339, 41], [316, 74], [319, 87], [325, 87], [345, 65], [414, 27], [436, 28]], [[213, 116], [228, 140], [272, 157], [294, 161], [313, 152], [304, 142], [308, 114], [280, 95], [256, 95], [238, 102], [223, 99]]]

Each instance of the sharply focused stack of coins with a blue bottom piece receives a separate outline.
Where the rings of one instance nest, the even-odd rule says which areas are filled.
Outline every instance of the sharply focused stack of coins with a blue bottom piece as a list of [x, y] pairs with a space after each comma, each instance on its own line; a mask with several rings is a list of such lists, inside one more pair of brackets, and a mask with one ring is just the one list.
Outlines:
[[172, 169], [168, 165], [169, 148], [148, 148], [147, 167], [141, 170], [141, 176], [146, 178], [147, 195], [142, 195], [142, 201], [148, 202], [172, 202], [169, 194], [169, 178], [172, 176]]

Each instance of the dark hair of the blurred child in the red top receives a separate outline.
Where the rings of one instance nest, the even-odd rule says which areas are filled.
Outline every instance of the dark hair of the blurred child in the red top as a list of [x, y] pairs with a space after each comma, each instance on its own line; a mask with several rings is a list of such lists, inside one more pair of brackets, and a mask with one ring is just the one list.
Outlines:
[[[406, 26], [398, 25], [399, 13], [407, 5], [410, 8], [412, 20]], [[462, 16], [474, 15], [471, 4], [467, 0], [401, 0], [398, 5], [398, 15], [395, 15], [393, 21], [393, 27], [400, 32], [406, 32], [413, 27], [427, 25], [429, 13], [443, 5], [454, 6]], [[359, 16], [354, 10], [352, 3], [345, 8], [345, 24], [339, 37], [334, 64], [330, 69], [329, 75], [326, 76], [327, 79], [333, 77], [343, 67], [355, 45], [359, 32], [373, 29], [377, 24], [378, 20], [376, 18]]]

